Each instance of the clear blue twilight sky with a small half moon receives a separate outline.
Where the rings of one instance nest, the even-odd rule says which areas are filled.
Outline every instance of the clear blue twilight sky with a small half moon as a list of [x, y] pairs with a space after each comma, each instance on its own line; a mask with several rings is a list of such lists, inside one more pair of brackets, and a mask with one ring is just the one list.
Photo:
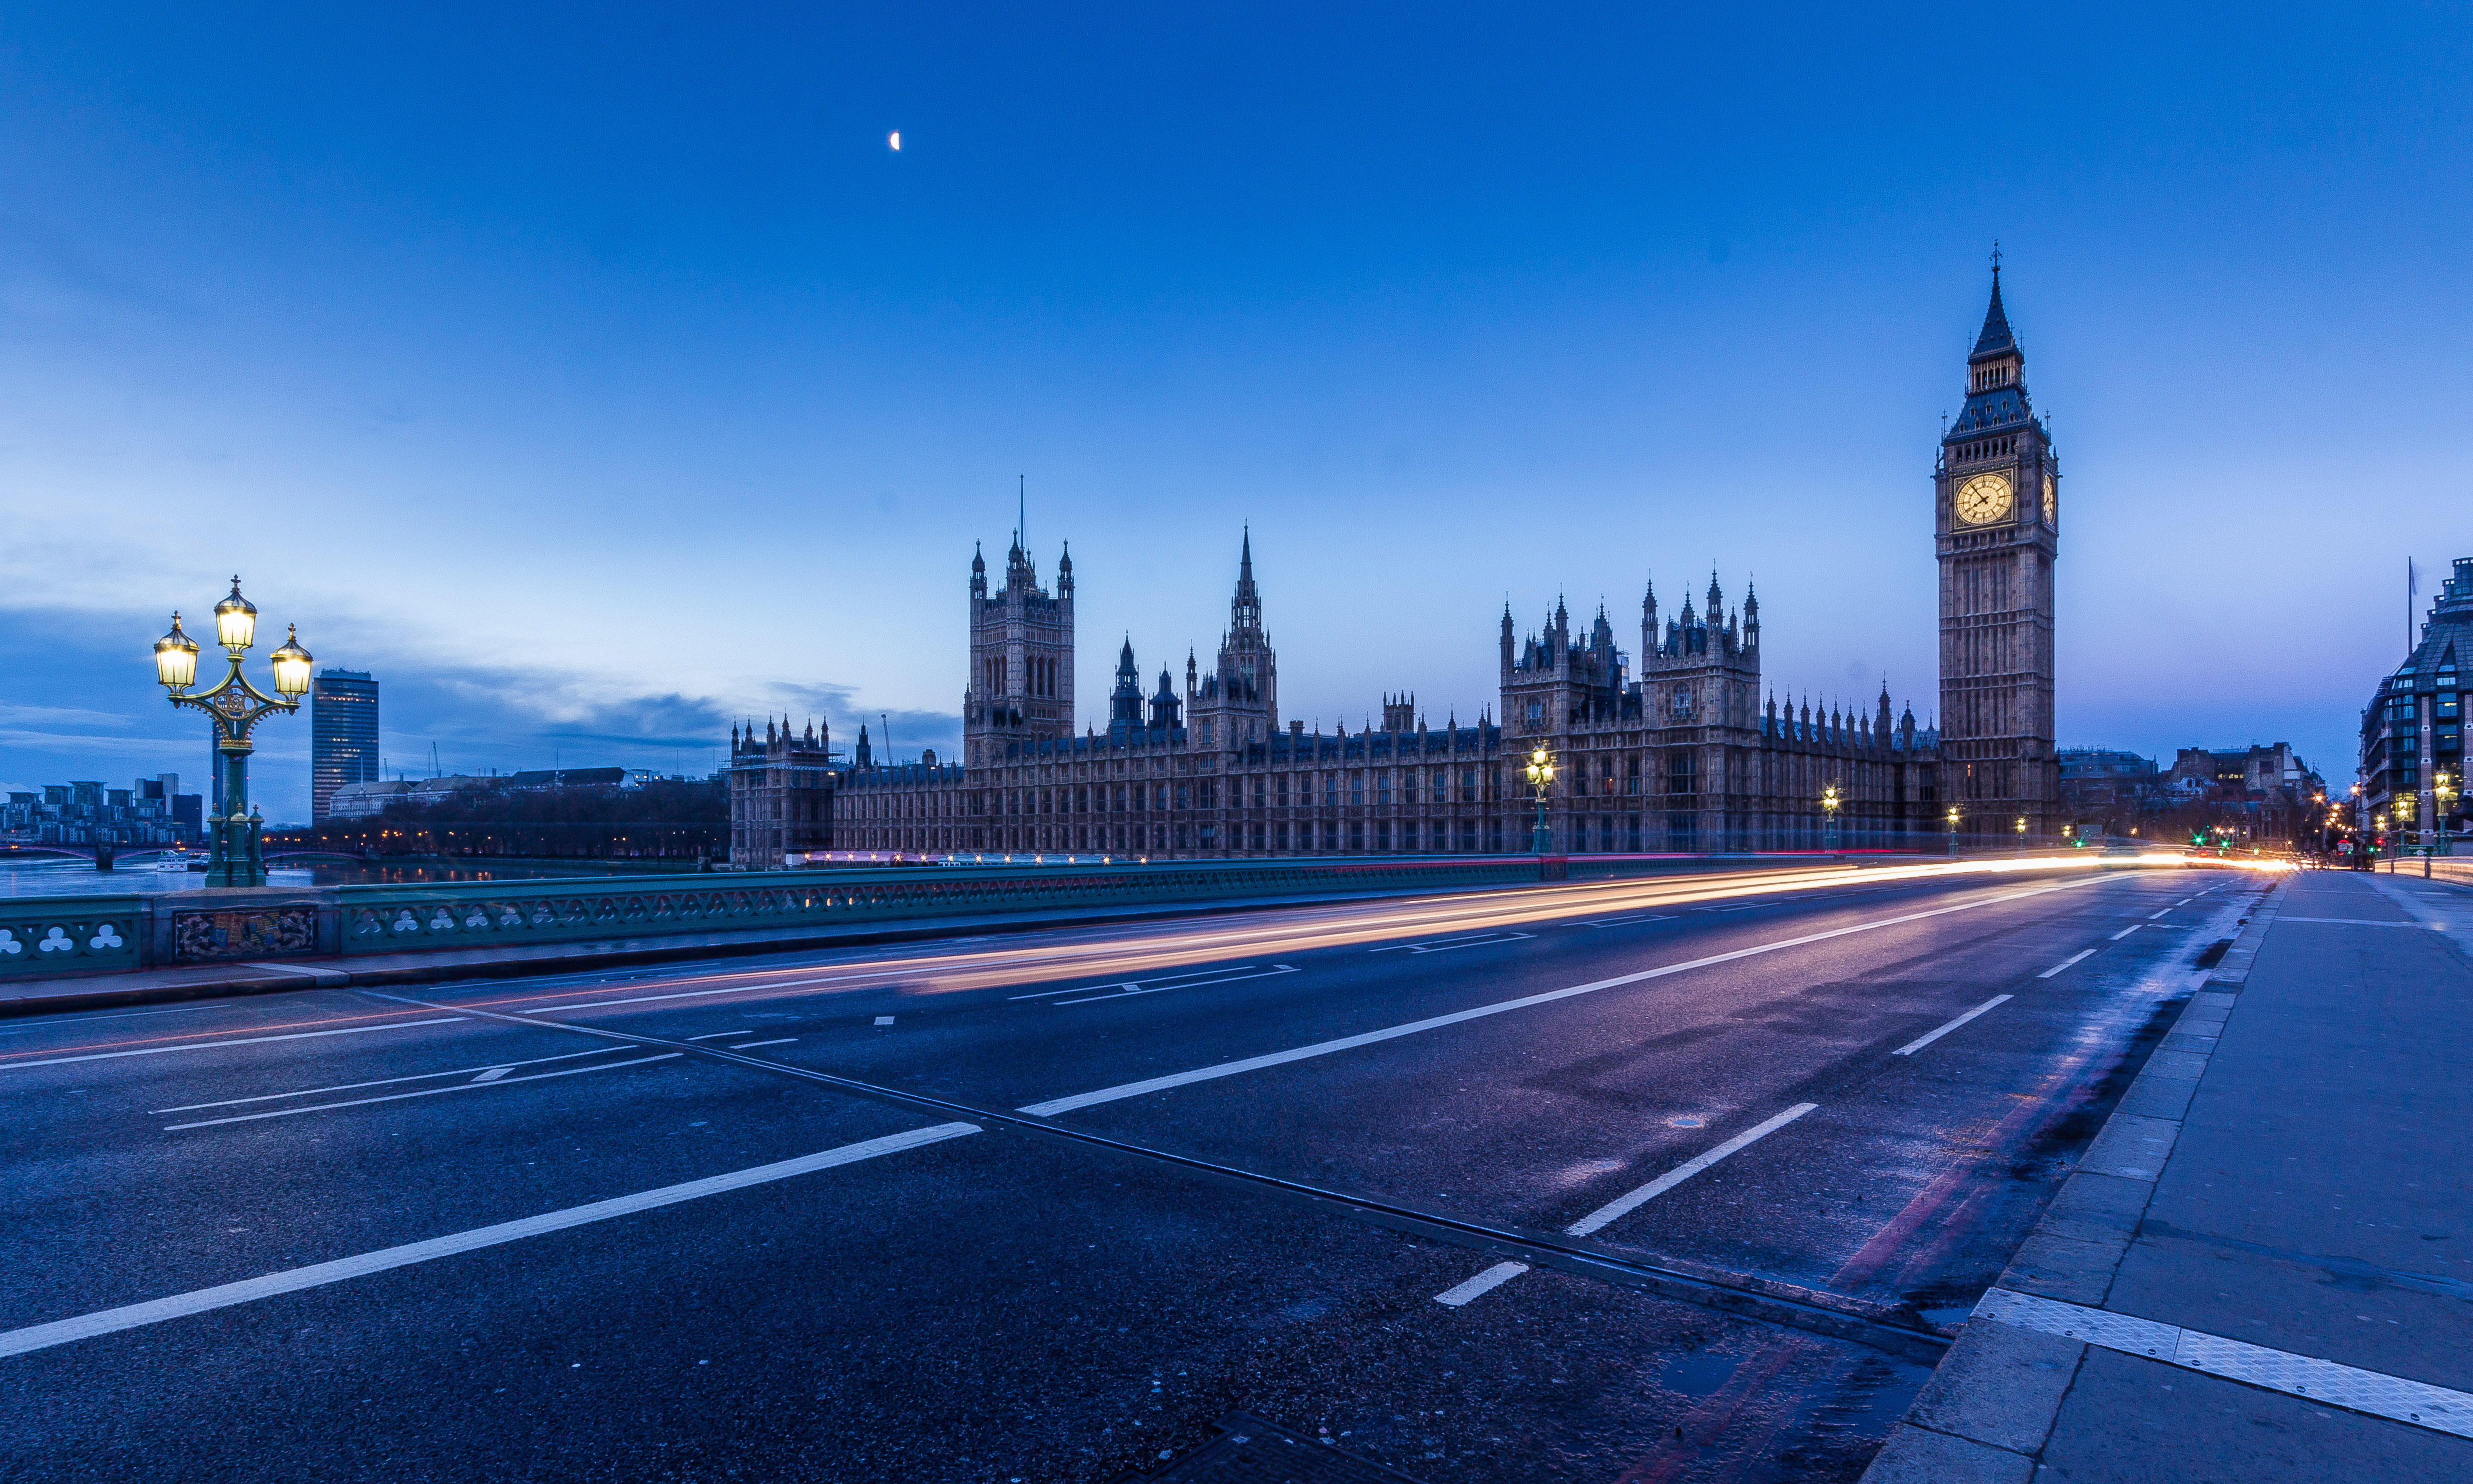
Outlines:
[[0, 789], [195, 789], [151, 641], [232, 574], [391, 772], [952, 749], [1016, 492], [1100, 722], [1246, 527], [1308, 725], [1711, 569], [1781, 702], [1929, 722], [1996, 240], [2060, 742], [2349, 779], [2473, 554], [2468, 17], [1892, 10], [12, 5]]

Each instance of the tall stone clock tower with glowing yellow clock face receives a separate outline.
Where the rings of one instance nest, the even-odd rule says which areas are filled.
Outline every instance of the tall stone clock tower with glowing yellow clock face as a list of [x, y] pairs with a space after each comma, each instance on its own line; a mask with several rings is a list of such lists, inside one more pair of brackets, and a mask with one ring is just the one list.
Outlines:
[[1993, 302], [1966, 356], [1966, 408], [1931, 477], [1941, 559], [1941, 799], [1976, 836], [2060, 826], [2053, 757], [2053, 559], [2060, 465], [2025, 398], [2025, 354]]

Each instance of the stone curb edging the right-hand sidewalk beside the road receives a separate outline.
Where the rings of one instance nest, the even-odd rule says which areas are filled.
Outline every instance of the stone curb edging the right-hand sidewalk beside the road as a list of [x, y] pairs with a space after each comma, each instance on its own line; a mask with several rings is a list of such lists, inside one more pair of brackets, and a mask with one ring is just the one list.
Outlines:
[[[2248, 927], [2181, 1007], [1996, 1289], [2102, 1308], [2258, 945], [2283, 910], [2285, 885], [2290, 881], [2250, 910]], [[1966, 1323], [1914, 1405], [1889, 1427], [1862, 1484], [2028, 1484], [2085, 1353], [2082, 1341]]]

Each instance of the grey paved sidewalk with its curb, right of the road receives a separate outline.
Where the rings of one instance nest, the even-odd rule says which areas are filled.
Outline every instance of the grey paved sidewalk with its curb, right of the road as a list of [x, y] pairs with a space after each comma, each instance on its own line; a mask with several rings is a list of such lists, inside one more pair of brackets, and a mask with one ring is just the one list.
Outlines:
[[1867, 1484], [2473, 1479], [2473, 890], [2253, 913]]

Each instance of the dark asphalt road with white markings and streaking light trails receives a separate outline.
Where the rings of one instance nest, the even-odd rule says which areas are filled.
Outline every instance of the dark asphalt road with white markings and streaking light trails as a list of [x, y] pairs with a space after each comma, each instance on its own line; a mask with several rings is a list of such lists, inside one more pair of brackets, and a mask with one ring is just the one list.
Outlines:
[[5, 1477], [1113, 1482], [1241, 1410], [1432, 1484], [1852, 1479], [2258, 885], [1573, 883], [0, 1021]]

